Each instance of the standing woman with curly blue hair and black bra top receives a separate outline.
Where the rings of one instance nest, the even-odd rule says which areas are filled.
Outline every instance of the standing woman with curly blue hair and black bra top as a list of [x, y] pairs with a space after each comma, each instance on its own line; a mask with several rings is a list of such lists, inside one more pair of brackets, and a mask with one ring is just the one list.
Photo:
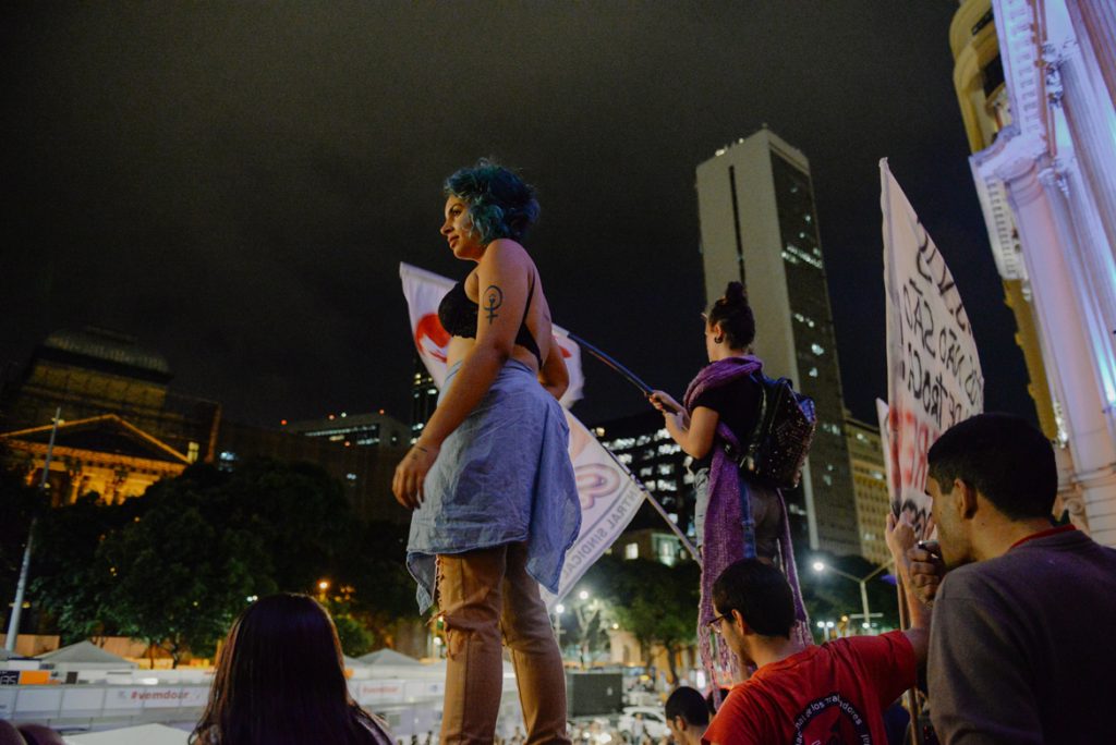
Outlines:
[[568, 743], [561, 655], [539, 584], [557, 591], [580, 529], [568, 375], [538, 269], [520, 244], [539, 214], [535, 190], [490, 161], [445, 182], [442, 235], [475, 263], [439, 319], [451, 335], [437, 408], [395, 470], [412, 510], [407, 568], [419, 607], [437, 601], [446, 630], [443, 743], [490, 743], [503, 687], [503, 642], [528, 743]]

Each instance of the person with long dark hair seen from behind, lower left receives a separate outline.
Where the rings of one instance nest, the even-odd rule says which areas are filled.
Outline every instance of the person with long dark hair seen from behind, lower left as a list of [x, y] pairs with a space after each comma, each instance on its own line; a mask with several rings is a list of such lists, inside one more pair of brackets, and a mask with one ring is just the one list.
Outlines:
[[337, 629], [304, 594], [253, 602], [229, 630], [198, 745], [392, 745], [386, 726], [353, 700]]

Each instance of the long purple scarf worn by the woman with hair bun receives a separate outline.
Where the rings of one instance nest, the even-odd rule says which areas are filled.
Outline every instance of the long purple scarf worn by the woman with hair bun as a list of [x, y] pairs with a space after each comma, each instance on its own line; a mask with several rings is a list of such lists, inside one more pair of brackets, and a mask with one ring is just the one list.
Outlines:
[[[694, 400], [706, 390], [729, 385], [762, 369], [763, 362], [752, 356], [727, 357], [708, 365], [686, 388], [683, 406], [692, 415]], [[720, 698], [718, 670], [732, 673], [733, 679], [739, 678], [739, 670], [737, 669], [735, 656], [725, 644], [718, 645], [716, 659], [714, 660], [713, 640], [709, 627], [710, 621], [716, 617], [716, 611], [713, 610], [713, 582], [729, 564], [745, 555], [756, 555], [754, 545], [749, 546], [750, 550], [745, 553], [744, 532], [741, 529], [743, 520], [741, 496], [747, 499], [748, 495], [740, 493], [740, 468], [725, 455], [725, 443], [740, 452], [740, 441], [724, 424], [724, 419], [720, 418], [716, 423], [716, 437], [713, 439], [713, 463], [709, 473], [709, 506], [705, 510], [705, 529], [702, 535], [701, 604], [698, 610], [698, 649], [701, 654], [702, 667], [705, 668], [711, 685], [714, 686], [714, 697], [716, 698]], [[782, 500], [782, 494], [778, 490], [776, 493], [779, 495], [779, 505], [782, 510], [782, 536], [779, 540], [780, 560], [795, 596], [795, 617], [798, 619], [792, 633], [799, 642], [812, 645], [814, 638], [809, 630], [809, 618], [806, 615], [802, 593], [798, 587], [798, 568], [795, 564], [795, 551], [790, 542], [790, 521], [787, 516], [787, 505]]]

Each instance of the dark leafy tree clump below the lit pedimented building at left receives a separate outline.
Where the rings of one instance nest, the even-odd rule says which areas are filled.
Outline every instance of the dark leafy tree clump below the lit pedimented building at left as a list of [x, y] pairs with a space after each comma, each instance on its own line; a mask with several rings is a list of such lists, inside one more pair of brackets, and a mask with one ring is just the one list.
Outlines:
[[[96, 496], [50, 511], [35, 592], [68, 637], [109, 631], [208, 654], [244, 608], [275, 590], [316, 592], [328, 578], [346, 650], [391, 641], [417, 618], [406, 530], [365, 524], [340, 485], [309, 464], [196, 464], [140, 497]], [[92, 558], [92, 560], [90, 560]]]

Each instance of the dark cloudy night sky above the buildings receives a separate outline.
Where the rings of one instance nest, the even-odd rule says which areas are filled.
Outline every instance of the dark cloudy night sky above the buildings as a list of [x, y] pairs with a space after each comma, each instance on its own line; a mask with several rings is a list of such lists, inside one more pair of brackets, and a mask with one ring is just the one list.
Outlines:
[[[806, 153], [846, 405], [885, 396], [877, 161], [1033, 418], [966, 162], [946, 0], [7, 3], [0, 365], [135, 335], [175, 390], [278, 425], [410, 419], [397, 265], [460, 278], [441, 184], [521, 170], [555, 321], [681, 394], [704, 360], [694, 168], [762, 124]], [[586, 362], [584, 420], [639, 412]]]

